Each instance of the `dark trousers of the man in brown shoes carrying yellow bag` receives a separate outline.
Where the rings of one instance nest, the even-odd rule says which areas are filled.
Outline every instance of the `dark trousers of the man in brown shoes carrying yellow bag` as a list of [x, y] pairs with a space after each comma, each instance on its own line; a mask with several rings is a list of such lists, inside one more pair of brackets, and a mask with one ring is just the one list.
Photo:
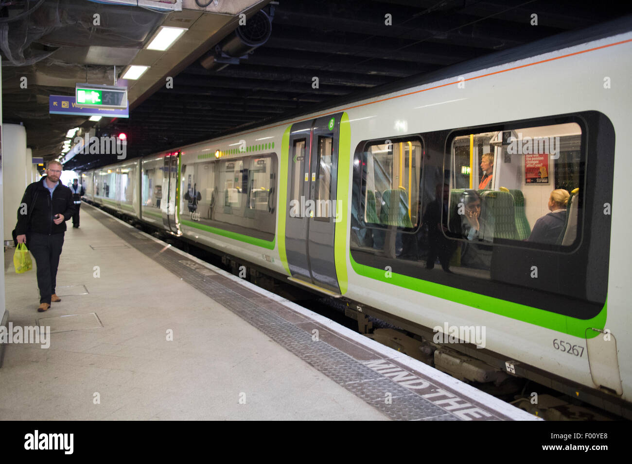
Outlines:
[[31, 232], [27, 244], [37, 263], [37, 287], [40, 289], [40, 303], [51, 304], [51, 295], [55, 293], [59, 255], [64, 244], [64, 233], [36, 234]]

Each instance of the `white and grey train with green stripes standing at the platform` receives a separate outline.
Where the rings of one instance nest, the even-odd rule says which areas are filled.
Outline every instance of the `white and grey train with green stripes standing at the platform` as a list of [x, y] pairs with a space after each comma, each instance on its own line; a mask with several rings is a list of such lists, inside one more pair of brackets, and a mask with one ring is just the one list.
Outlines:
[[85, 199], [631, 418], [630, 56], [628, 17], [81, 172]]

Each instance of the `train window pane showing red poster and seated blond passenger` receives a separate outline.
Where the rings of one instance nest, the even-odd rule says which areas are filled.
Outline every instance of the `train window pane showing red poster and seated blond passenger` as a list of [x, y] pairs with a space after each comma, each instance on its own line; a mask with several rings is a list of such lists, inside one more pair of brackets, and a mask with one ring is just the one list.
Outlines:
[[490, 244], [573, 244], [581, 206], [579, 124], [466, 134], [449, 146], [447, 235]]

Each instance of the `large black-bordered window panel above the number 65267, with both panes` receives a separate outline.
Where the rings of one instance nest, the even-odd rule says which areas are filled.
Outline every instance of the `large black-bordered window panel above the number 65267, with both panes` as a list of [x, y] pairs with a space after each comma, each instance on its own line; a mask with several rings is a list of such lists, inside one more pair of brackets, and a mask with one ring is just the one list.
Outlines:
[[[399, 140], [392, 140], [394, 153], [386, 158], [379, 153], [390, 152], [384, 141], [355, 148], [349, 245], [358, 273], [382, 280], [374, 270], [390, 266], [393, 275], [574, 318], [602, 311], [615, 143], [607, 116], [586, 111], [420, 138], [416, 229], [381, 226], [379, 199], [372, 205], [380, 174], [388, 182], [398, 174], [389, 163]], [[415, 280], [395, 285], [445, 293]]]

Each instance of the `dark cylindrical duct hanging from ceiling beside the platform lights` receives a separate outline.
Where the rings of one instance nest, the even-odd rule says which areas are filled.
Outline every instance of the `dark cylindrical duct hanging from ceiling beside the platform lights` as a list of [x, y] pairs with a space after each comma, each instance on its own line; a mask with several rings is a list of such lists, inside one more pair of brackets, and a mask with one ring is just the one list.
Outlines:
[[229, 64], [239, 64], [241, 59], [248, 59], [248, 54], [265, 44], [272, 33], [274, 6], [269, 6], [269, 13], [257, 11], [240, 25], [228, 37], [217, 44], [214, 50], [200, 59], [200, 64], [209, 71], [221, 71]]

